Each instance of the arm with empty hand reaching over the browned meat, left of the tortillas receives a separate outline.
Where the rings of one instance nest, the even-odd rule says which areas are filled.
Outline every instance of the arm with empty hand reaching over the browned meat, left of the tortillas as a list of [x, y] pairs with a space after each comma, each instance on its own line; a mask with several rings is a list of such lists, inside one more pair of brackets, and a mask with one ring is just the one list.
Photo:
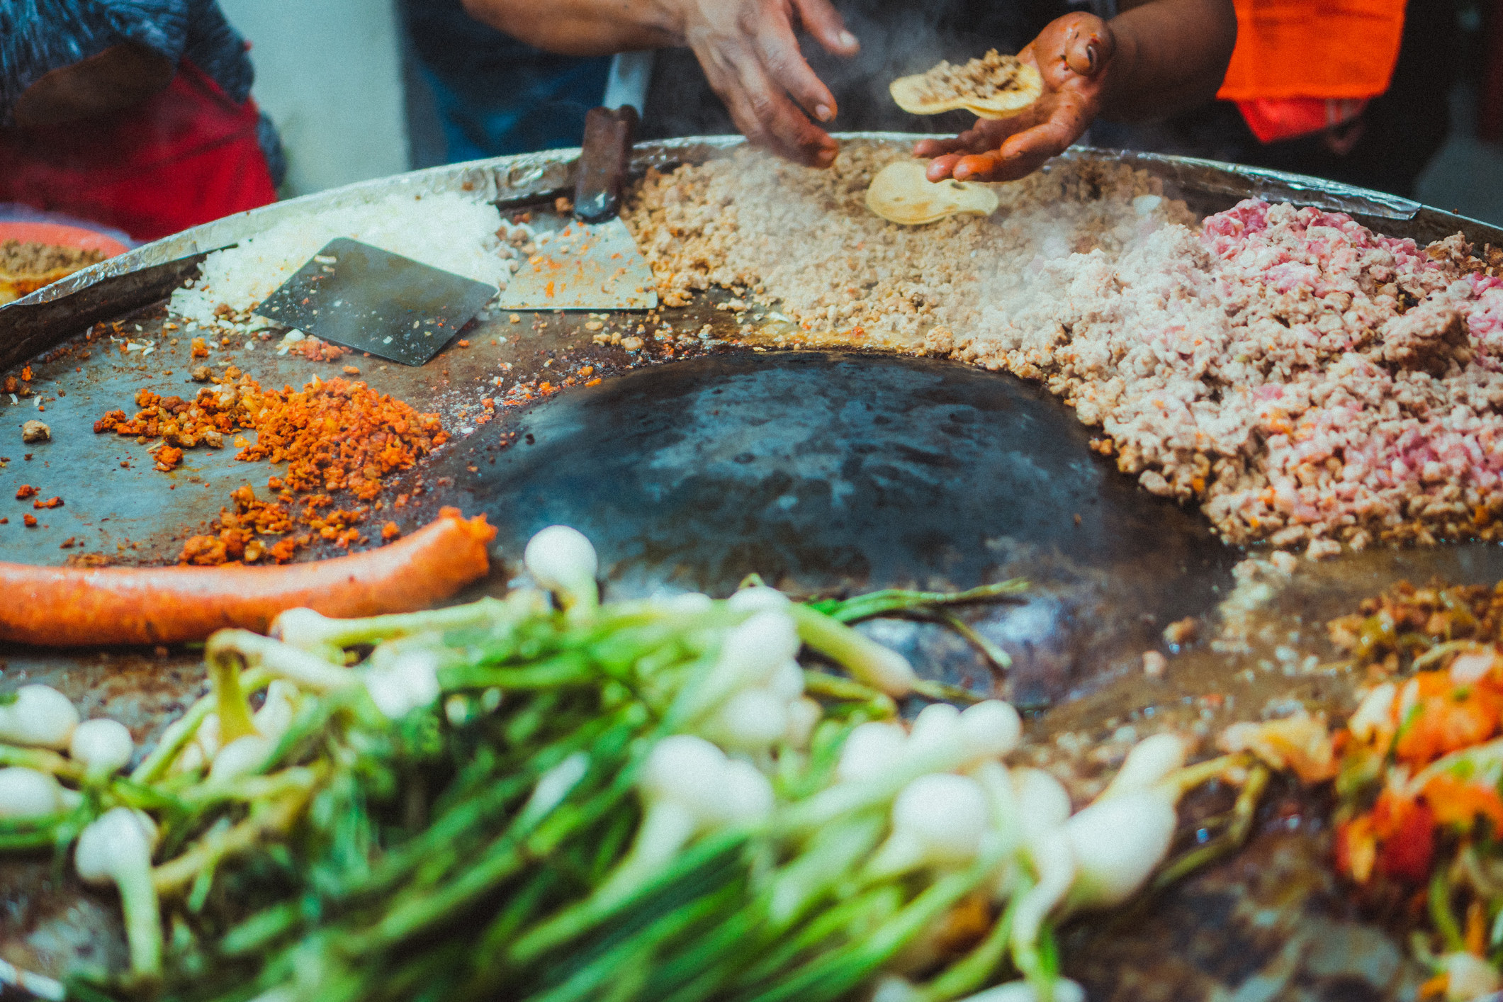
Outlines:
[[795, 24], [821, 45], [854, 56], [858, 45], [830, 0], [464, 0], [470, 17], [529, 45], [591, 56], [687, 45], [736, 128], [782, 156], [828, 167], [836, 99], [798, 51]]

